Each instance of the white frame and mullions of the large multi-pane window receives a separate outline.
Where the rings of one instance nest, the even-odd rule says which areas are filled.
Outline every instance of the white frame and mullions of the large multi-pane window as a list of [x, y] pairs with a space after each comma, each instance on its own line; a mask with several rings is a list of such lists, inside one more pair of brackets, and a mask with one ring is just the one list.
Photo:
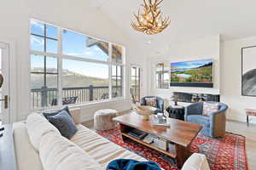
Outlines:
[[[34, 34], [32, 34], [32, 25], [31, 25], [31, 21], [35, 21], [35, 22], [39, 22], [42, 23], [44, 25], [49, 25], [49, 26], [55, 26], [53, 24], [50, 24], [49, 22], [45, 22], [42, 20], [36, 20], [36, 19], [30, 19], [30, 34], [29, 34], [29, 41], [31, 41], [31, 37], [35, 36]], [[81, 106], [81, 105], [95, 105], [95, 104], [100, 104], [100, 103], [105, 103], [105, 102], [111, 102], [111, 101], [118, 101], [118, 100], [124, 100], [125, 99], [125, 47], [123, 45], [120, 45], [119, 43], [115, 43], [115, 42], [109, 42], [106, 40], [102, 40], [101, 38], [97, 38], [97, 37], [92, 37], [89, 35], [86, 35], [84, 33], [81, 33], [79, 31], [74, 31], [72, 29], [68, 29], [65, 27], [61, 27], [61, 26], [55, 26], [58, 30], [58, 35], [57, 35], [57, 42], [58, 42], [58, 48], [57, 48], [57, 54], [53, 54], [53, 53], [47, 53], [46, 51], [41, 52], [41, 51], [36, 51], [36, 50], [32, 50], [31, 46], [29, 48], [30, 51], [30, 55], [29, 55], [29, 60], [30, 60], [30, 68], [32, 66], [31, 63], [31, 55], [42, 55], [44, 57], [54, 57], [57, 58], [57, 72], [58, 72], [58, 84], [57, 84], [57, 105], [52, 105], [50, 107], [39, 107], [39, 108], [31, 108], [32, 111], [43, 111], [43, 110], [51, 110], [51, 109], [55, 109], [55, 108], [60, 108], [62, 105], [62, 60], [63, 59], [72, 59], [72, 60], [77, 60], [77, 61], [84, 61], [84, 62], [90, 62], [90, 63], [95, 63], [95, 64], [105, 64], [108, 65], [108, 99], [99, 99], [99, 100], [95, 100], [95, 101], [87, 101], [87, 102], [81, 102], [81, 103], [77, 103], [77, 104], [73, 104], [73, 105], [69, 105], [69, 106]], [[97, 60], [97, 59], [86, 59], [86, 58], [82, 58], [82, 57], [78, 57], [78, 56], [73, 56], [73, 55], [67, 55], [67, 54], [62, 54], [62, 32], [63, 30], [67, 30], [67, 31], [73, 31], [75, 33], [78, 33], [82, 36], [86, 36], [86, 37], [91, 37], [94, 38], [96, 40], [102, 41], [102, 42], [108, 42], [108, 61], [104, 61], [104, 60]], [[41, 37], [41, 36], [40, 36]], [[47, 36], [45, 38], [48, 38]], [[55, 39], [50, 37], [50, 39]], [[112, 47], [113, 45], [118, 45], [122, 48], [122, 62], [121, 63], [115, 63], [113, 62], [112, 59]], [[44, 42], [44, 47], [47, 46], [46, 41]], [[122, 96], [113, 98], [112, 96], [112, 66], [113, 65], [120, 65], [122, 68], [121, 71], [121, 77], [122, 77]], [[31, 85], [31, 74], [32, 71], [30, 70], [29, 72], [30, 74], [30, 85]], [[30, 91], [31, 93], [31, 88]], [[32, 102], [32, 97], [30, 95], [30, 105]]]

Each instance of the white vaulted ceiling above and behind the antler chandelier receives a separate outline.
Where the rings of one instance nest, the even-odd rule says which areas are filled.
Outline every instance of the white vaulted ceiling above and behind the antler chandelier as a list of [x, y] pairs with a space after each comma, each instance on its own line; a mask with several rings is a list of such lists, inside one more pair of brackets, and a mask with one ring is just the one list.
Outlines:
[[[162, 11], [170, 16], [172, 23], [152, 36], [131, 27], [132, 14], [143, 0], [91, 0], [91, 3], [138, 46], [154, 47], [154, 52], [166, 45], [216, 34], [221, 34], [222, 40], [256, 35], [255, 0], [164, 0]], [[151, 43], [147, 45], [148, 39]]]

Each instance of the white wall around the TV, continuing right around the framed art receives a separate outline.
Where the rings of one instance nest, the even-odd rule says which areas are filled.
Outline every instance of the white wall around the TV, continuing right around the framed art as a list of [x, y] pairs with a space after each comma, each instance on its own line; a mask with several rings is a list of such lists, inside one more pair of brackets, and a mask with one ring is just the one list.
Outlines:
[[[220, 42], [218, 36], [173, 46], [160, 56], [148, 59], [148, 94], [170, 99], [172, 92], [220, 94], [221, 102], [229, 105], [227, 118], [246, 122], [245, 109], [256, 109], [256, 98], [241, 96], [241, 48], [256, 45], [256, 37]], [[157, 61], [177, 62], [192, 59], [215, 59], [214, 88], [154, 88], [154, 64]], [[255, 57], [256, 60], [256, 57]], [[256, 66], [256, 65], [255, 65]], [[251, 117], [250, 122], [256, 123]]]

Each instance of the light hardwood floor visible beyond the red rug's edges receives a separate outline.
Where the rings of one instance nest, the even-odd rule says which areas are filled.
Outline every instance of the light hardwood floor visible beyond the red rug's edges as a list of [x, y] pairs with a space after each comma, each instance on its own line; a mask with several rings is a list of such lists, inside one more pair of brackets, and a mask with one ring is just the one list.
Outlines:
[[[85, 127], [93, 129], [93, 121], [83, 122]], [[247, 161], [249, 170], [256, 169], [256, 125], [250, 124], [247, 128], [245, 122], [227, 121], [226, 131], [241, 134], [246, 137]]]

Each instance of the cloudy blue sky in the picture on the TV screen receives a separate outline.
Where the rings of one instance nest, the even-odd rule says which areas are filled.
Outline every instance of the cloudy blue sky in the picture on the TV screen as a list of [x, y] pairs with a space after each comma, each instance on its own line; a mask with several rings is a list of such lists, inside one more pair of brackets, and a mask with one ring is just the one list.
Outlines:
[[171, 63], [172, 69], [186, 69], [186, 68], [197, 68], [201, 65], [208, 64], [212, 62], [213, 59], [201, 59], [201, 60], [193, 60], [193, 61], [184, 61], [178, 63]]

